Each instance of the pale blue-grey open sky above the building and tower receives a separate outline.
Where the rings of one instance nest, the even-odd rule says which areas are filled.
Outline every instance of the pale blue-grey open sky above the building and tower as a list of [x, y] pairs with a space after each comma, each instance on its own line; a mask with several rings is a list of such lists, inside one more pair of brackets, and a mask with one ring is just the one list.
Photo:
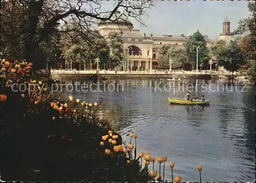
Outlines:
[[[133, 0], [128, 0], [133, 1]], [[114, 1], [103, 1], [102, 11], [112, 10]], [[143, 17], [146, 27], [130, 18], [140, 34], [192, 35], [199, 30], [215, 39], [222, 32], [222, 22], [227, 16], [230, 31], [237, 28], [238, 21], [249, 15], [247, 1], [156, 1], [155, 7]]]

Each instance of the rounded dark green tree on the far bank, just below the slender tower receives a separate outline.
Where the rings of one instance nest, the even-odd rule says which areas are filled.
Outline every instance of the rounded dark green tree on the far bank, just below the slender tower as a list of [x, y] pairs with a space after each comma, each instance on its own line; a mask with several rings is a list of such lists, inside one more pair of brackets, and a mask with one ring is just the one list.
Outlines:
[[235, 71], [243, 65], [243, 54], [238, 41], [230, 41], [227, 45], [218, 41], [213, 47], [218, 64], [225, 69]]

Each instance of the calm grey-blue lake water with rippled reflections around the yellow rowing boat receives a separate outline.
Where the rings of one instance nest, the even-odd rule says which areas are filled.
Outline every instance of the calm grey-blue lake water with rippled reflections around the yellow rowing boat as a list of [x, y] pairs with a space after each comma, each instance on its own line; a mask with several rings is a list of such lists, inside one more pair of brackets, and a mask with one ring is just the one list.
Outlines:
[[[90, 84], [96, 81], [78, 82]], [[68, 83], [72, 81], [66, 80]], [[127, 135], [133, 132], [139, 135], [138, 152], [150, 151], [153, 156], [167, 156], [165, 179], [168, 181], [171, 181], [169, 161], [175, 162], [174, 176], [180, 175], [182, 181], [199, 181], [199, 164], [204, 167], [204, 182], [244, 182], [255, 179], [254, 88], [224, 85], [224, 91], [222, 87], [214, 91], [218, 89], [212, 85], [217, 83], [214, 80], [186, 80], [184, 91], [182, 86], [179, 91], [178, 86], [170, 90], [166, 86], [164, 90], [164, 84], [173, 85], [165, 79], [116, 79], [106, 81], [105, 85], [110, 83], [109, 89], [105, 87], [103, 92], [99, 91], [103, 90], [101, 85], [98, 89], [96, 87], [98, 91], [68, 92], [64, 89], [60, 94], [63, 97], [73, 95], [86, 101], [96, 101], [102, 97], [104, 101], [100, 106], [100, 116], [110, 121], [125, 141], [130, 141]], [[160, 89], [157, 88], [159, 83]], [[169, 96], [183, 98], [188, 83], [190, 86], [187, 88], [194, 90], [191, 96], [200, 98], [205, 95], [211, 102], [209, 107], [168, 103]], [[198, 86], [195, 91], [196, 83], [205, 86]], [[123, 85], [123, 91], [122, 85], [117, 88], [118, 84]], [[159, 170], [158, 165], [156, 168]]]

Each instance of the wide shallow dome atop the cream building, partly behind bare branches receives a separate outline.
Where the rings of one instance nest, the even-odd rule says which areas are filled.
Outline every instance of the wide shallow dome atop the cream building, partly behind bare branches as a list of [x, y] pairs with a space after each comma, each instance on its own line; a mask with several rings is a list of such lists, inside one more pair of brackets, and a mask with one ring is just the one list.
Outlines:
[[[115, 22], [112, 22], [111, 20], [116, 20]], [[113, 16], [111, 17], [111, 20], [106, 21], [100, 21], [98, 25], [124, 25], [130, 28], [133, 28], [133, 23], [127, 18], [125, 15], [121, 15], [120, 11], [116, 11]]]

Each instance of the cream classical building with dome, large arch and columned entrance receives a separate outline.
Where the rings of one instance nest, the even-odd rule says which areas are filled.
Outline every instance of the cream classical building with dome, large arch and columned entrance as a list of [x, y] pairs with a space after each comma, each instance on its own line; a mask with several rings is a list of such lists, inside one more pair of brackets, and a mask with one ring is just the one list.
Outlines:
[[[119, 69], [132, 70], [152, 70], [157, 69], [157, 54], [162, 44], [170, 43], [176, 46], [184, 46], [189, 36], [186, 35], [163, 35], [163, 34], [140, 34], [134, 29], [133, 23], [119, 11], [113, 15], [113, 19], [119, 17], [118, 25], [111, 21], [101, 21], [98, 23], [98, 30], [101, 35], [108, 36], [111, 31], [122, 33], [124, 47], [126, 47], [127, 61]], [[126, 20], [126, 21], [124, 21]], [[205, 36], [207, 46], [211, 40]]]

